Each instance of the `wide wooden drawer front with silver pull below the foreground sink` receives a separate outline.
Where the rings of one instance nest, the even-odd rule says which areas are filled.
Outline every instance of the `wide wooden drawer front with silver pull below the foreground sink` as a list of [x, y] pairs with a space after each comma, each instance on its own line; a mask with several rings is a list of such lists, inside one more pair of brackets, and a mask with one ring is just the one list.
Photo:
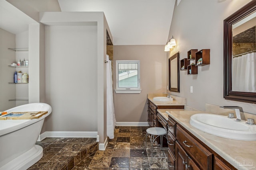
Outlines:
[[176, 127], [176, 138], [189, 156], [196, 160], [202, 169], [211, 169], [212, 154], [198, 143], [198, 141], [193, 139], [192, 136], [184, 131], [179, 125]]

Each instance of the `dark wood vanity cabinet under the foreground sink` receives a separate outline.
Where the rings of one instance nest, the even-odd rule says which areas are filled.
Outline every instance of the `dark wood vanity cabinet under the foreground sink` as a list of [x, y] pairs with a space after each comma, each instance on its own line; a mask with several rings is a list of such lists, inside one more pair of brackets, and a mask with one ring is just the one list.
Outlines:
[[236, 169], [170, 116], [168, 118], [168, 168], [169, 170]]

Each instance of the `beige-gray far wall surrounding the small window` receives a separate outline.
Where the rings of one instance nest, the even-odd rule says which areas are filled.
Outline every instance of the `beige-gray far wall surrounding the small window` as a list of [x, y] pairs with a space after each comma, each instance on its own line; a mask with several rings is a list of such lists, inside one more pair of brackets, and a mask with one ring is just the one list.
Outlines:
[[116, 88], [116, 60], [140, 60], [140, 94], [114, 94], [117, 122], [147, 122], [147, 94], [166, 91], [164, 45], [114, 45], [113, 82]]

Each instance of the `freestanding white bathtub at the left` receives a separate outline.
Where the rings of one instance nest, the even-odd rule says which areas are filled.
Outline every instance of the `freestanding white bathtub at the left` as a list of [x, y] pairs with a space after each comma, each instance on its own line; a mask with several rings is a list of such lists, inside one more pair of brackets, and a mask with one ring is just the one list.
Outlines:
[[6, 111], [48, 111], [38, 119], [0, 120], [0, 170], [26, 170], [43, 156], [42, 147], [35, 143], [52, 107], [45, 103], [31, 103]]

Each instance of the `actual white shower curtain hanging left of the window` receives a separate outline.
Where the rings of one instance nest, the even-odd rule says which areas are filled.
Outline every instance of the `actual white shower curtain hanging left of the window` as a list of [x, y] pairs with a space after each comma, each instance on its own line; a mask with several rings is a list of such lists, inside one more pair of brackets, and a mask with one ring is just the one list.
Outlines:
[[110, 139], [114, 138], [114, 128], [116, 125], [116, 117], [114, 110], [114, 100], [113, 100], [113, 87], [112, 87], [112, 68], [111, 61], [109, 60], [109, 56], [107, 55], [107, 136]]

